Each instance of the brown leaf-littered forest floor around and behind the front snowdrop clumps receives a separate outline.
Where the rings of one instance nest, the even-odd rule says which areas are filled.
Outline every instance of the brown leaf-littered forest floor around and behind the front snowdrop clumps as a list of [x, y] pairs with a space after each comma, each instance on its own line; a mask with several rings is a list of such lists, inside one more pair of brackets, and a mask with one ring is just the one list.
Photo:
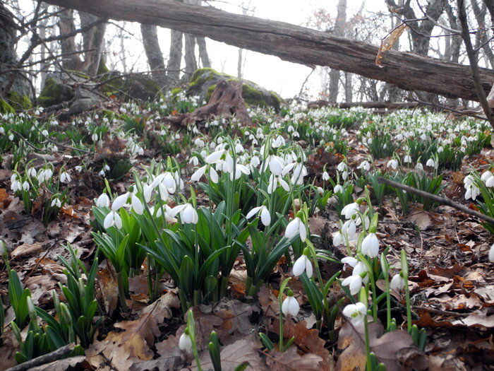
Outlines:
[[[121, 110], [122, 107], [124, 110]], [[220, 120], [208, 127], [201, 124], [196, 131], [190, 127], [177, 129], [167, 124], [164, 118], [176, 109], [192, 110], [193, 107], [183, 108], [176, 102], [174, 105], [163, 103], [161, 107], [111, 102], [73, 122], [54, 122], [42, 113], [36, 119], [32, 113], [32, 116], [20, 118], [4, 117], [0, 122], [0, 127], [4, 127], [3, 136], [9, 132], [15, 136], [11, 146], [2, 144], [0, 139], [0, 148], [4, 146], [0, 166], [0, 240], [6, 243], [11, 268], [18, 273], [25, 288], [30, 289], [32, 302], [37, 307], [54, 314], [52, 290], [59, 293], [59, 283], [67, 282], [64, 266], [58, 257], [61, 255], [68, 259], [67, 244], [77, 249], [77, 256], [88, 268], [95, 258], [97, 245], [92, 237], [92, 207], [106, 187], [105, 177], [101, 173], [105, 165], [113, 171], [119, 163], [124, 164], [122, 166], [126, 170], [122, 170], [123, 175], [112, 175], [112, 179], [108, 171], [106, 174], [112, 192], [123, 194], [135, 182], [133, 175], [143, 179], [147, 174], [145, 169], [159, 160], [166, 162], [167, 155], [171, 155], [181, 165], [184, 192], [190, 194], [187, 191], [192, 184], [189, 179], [197, 166], [189, 160], [200, 152], [196, 138], [204, 141], [205, 148], [209, 148], [212, 141], [218, 143], [218, 136], [236, 136], [249, 151], [262, 143], [259, 132], [267, 136], [275, 130], [284, 141], [296, 144], [306, 152], [308, 175], [304, 179], [305, 184], [332, 191], [334, 185], [322, 179], [323, 172], [327, 172], [334, 182], [353, 185], [353, 199], [365, 196], [367, 187], [373, 200], [373, 211], [379, 215], [376, 235], [380, 252], [389, 247], [387, 261], [394, 269], [399, 268], [400, 251], [403, 249], [407, 254], [411, 316], [419, 329], [426, 329], [426, 346], [421, 351], [411, 346], [397, 346], [399, 338], [387, 339], [387, 342], [376, 343], [373, 348], [378, 358], [391, 358], [387, 360], [390, 362], [387, 365], [399, 365], [410, 370], [494, 368], [494, 277], [493, 263], [487, 258], [490, 245], [494, 242], [493, 235], [481, 225], [480, 220], [450, 206], [433, 204], [426, 210], [423, 204], [409, 200], [406, 202], [408, 210], [404, 211], [393, 189], [383, 188], [383, 194], [379, 197], [375, 194], [376, 184], [370, 181], [371, 174], [388, 175], [393, 179], [397, 179], [397, 172], [400, 176], [420, 172], [428, 179], [442, 175], [439, 181], [443, 186], [441, 194], [479, 210], [481, 207], [476, 201], [486, 200], [483, 195], [478, 196], [476, 201], [464, 198], [464, 177], [471, 170], [479, 173], [489, 170], [494, 158], [490, 140], [478, 139], [483, 143], [477, 153], [463, 154], [458, 165], [448, 168], [449, 163], [445, 162], [446, 165], [439, 169], [426, 166], [430, 155], [425, 158], [423, 154], [420, 158], [420, 154], [413, 153], [408, 141], [438, 141], [439, 146], [451, 146], [453, 160], [450, 163], [454, 163], [454, 156], [464, 146], [462, 136], [476, 135], [471, 129], [474, 127], [478, 129], [480, 138], [482, 133], [488, 133], [484, 124], [462, 117], [418, 111], [397, 112], [382, 117], [363, 110], [314, 110], [308, 113], [290, 108], [284, 109], [282, 114], [252, 110], [253, 124], [248, 128], [238, 124], [222, 124]], [[23, 120], [24, 124], [28, 122], [25, 125], [35, 121], [40, 129], [46, 127], [50, 140], [44, 140], [43, 136], [36, 142], [27, 134], [22, 135], [19, 130], [23, 124], [19, 120]], [[465, 122], [468, 127], [462, 126]], [[455, 131], [458, 126], [459, 130]], [[311, 127], [318, 129], [311, 131]], [[299, 136], [294, 136], [294, 131]], [[406, 138], [407, 131], [412, 131], [413, 135]], [[72, 132], [79, 132], [80, 138], [72, 138]], [[427, 139], [421, 139], [423, 133], [426, 133]], [[97, 141], [94, 134], [97, 134]], [[251, 134], [259, 144], [253, 143]], [[379, 148], [369, 148], [368, 138], [385, 137], [387, 134], [390, 138], [386, 140], [392, 143], [393, 151], [378, 153]], [[458, 143], [454, 141], [456, 138], [459, 138]], [[451, 139], [452, 143], [445, 141], [447, 139]], [[468, 146], [473, 142], [469, 141]], [[18, 148], [21, 146], [24, 152], [19, 155]], [[341, 151], [342, 148], [344, 151]], [[415, 157], [411, 163], [403, 161], [407, 153]], [[426, 153], [426, 150], [421, 153]], [[399, 160], [396, 170], [389, 163], [392, 158]], [[130, 168], [126, 167], [127, 160], [130, 161]], [[364, 160], [369, 161], [372, 170], [358, 169]], [[66, 202], [52, 220], [45, 220], [47, 223], [42, 220], [43, 207], [47, 208], [43, 203], [44, 198], [54, 194], [51, 189], [40, 192], [38, 199], [32, 199], [34, 206], [30, 213], [25, 212], [25, 201], [20, 194], [11, 189], [16, 163], [16, 170], [22, 176], [24, 169], [28, 168], [28, 161], [28, 167], [35, 167], [38, 173], [42, 167], [50, 167], [56, 176], [63, 168], [71, 178], [66, 185], [60, 183], [59, 192], [66, 190]], [[346, 164], [346, 182], [342, 181], [344, 171], [339, 166], [342, 162]], [[416, 170], [416, 163], [422, 163], [425, 170]], [[199, 187], [195, 187], [195, 192], [198, 204], [207, 205], [207, 192]], [[331, 196], [325, 210], [314, 210], [308, 218], [308, 226], [311, 233], [317, 235], [312, 237], [315, 246], [339, 260], [347, 257], [348, 249], [332, 243], [333, 236], [341, 229], [340, 216], [335, 207], [337, 204], [338, 200]], [[342, 269], [342, 278], [351, 274], [347, 266], [342, 268], [342, 264], [332, 261], [320, 260], [319, 265], [325, 280]], [[8, 305], [8, 270], [5, 264], [0, 264], [0, 267], [0, 293], [6, 303], [4, 334], [0, 340], [0, 369], [6, 369], [16, 365], [14, 355], [19, 346], [9, 326], [14, 312]], [[279, 352], [277, 348], [269, 351], [260, 341], [258, 333], [263, 332], [273, 343], [278, 342], [277, 295], [284, 278], [291, 277], [291, 264], [286, 257], [279, 259], [269, 281], [260, 288], [258, 300], [246, 295], [247, 276], [246, 262], [243, 254], [239, 254], [229, 275], [226, 298], [193, 307], [195, 338], [204, 370], [212, 368], [207, 343], [213, 330], [222, 344], [223, 370], [234, 370], [241, 363], [248, 364], [247, 370], [333, 370], [335, 367], [338, 370], [352, 370], [354, 366], [361, 365], [362, 357], [365, 363], [365, 347], [361, 338], [349, 334], [348, 328], [344, 328], [341, 309], [349, 300], [338, 304], [335, 329], [340, 333], [331, 340], [325, 326], [322, 331], [315, 329], [317, 319], [309, 305], [306, 290], [297, 277], [292, 277], [289, 285], [301, 310], [296, 318], [287, 319], [284, 324], [285, 338], [294, 336], [294, 346], [285, 352]], [[376, 285], [385, 290], [382, 278]], [[126, 301], [129, 310], [123, 312], [119, 305], [115, 271], [100, 256], [95, 297], [100, 307], [97, 317], [104, 316], [104, 319], [94, 342], [88, 346], [85, 355], [59, 360], [37, 370], [195, 370], [195, 360], [191, 354], [179, 348], [186, 319], [171, 276], [164, 273], [159, 282], [158, 299], [152, 302], [145, 261], [142, 270], [128, 279], [128, 292]], [[337, 305], [337, 300], [344, 296], [341, 286], [335, 281], [329, 292], [330, 302]], [[380, 319], [385, 318], [385, 314], [382, 314], [384, 317], [381, 314]], [[397, 319], [398, 328], [406, 329], [406, 300], [402, 291], [392, 291], [392, 315]], [[23, 331], [24, 336], [26, 331]], [[388, 353], [383, 351], [384, 348]], [[392, 368], [388, 367], [389, 370]]]

